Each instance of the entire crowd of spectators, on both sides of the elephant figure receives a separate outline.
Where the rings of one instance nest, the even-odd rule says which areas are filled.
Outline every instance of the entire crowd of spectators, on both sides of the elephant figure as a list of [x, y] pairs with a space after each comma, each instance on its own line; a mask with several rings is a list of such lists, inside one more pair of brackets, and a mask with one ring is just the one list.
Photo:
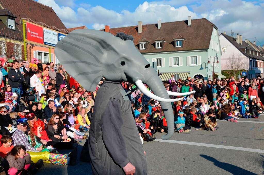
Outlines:
[[[2, 77], [2, 79], [1, 79]], [[36, 58], [18, 61], [13, 56], [0, 58], [0, 156], [2, 173], [35, 174], [44, 163], [75, 165], [74, 142], [88, 138], [95, 91], [86, 91], [63, 65], [42, 64]], [[122, 82], [130, 91], [135, 85]], [[172, 103], [175, 132], [218, 129], [216, 119], [237, 122], [240, 117], [258, 118], [264, 110], [263, 79], [234, 77], [202, 80], [188, 77], [175, 80], [172, 75], [164, 88], [172, 92], [195, 93]], [[151, 89], [145, 84], [145, 87]], [[130, 94], [135, 123], [142, 144], [155, 140], [156, 132], [167, 132], [167, 122], [158, 101], [140, 90]], [[61, 149], [73, 149], [60, 154]], [[3, 159], [5, 158], [5, 159]], [[34, 164], [30, 165], [30, 162]]]

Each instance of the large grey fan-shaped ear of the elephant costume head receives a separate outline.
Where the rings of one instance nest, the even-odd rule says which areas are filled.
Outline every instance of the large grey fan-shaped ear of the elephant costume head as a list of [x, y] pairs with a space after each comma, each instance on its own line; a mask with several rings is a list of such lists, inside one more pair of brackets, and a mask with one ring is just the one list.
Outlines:
[[111, 46], [112, 37], [115, 36], [99, 30], [74, 30], [57, 43], [55, 55], [76, 81], [94, 91], [106, 73], [103, 63], [107, 53], [117, 53]]

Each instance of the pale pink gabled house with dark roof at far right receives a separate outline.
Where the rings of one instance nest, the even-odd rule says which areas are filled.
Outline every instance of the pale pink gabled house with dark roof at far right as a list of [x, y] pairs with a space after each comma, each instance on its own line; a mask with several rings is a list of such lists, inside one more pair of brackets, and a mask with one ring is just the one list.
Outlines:
[[[260, 75], [263, 78], [264, 73], [264, 47], [251, 43], [249, 40], [242, 40], [242, 35], [237, 34], [236, 38], [223, 32], [219, 36], [222, 55], [222, 70], [230, 70], [232, 64], [235, 64], [237, 70], [247, 71], [249, 79]], [[231, 67], [230, 67], [231, 65]], [[239, 66], [240, 65], [240, 66]]]

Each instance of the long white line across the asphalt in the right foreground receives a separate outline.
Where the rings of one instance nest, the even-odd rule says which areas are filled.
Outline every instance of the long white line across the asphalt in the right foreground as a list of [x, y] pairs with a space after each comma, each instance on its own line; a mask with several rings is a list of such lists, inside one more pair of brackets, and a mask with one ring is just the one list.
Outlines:
[[185, 145], [195, 145], [195, 146], [206, 146], [206, 147], [211, 147], [211, 148], [233, 149], [233, 150], [248, 151], [248, 152], [254, 152], [254, 153], [264, 153], [264, 150], [262, 149], [243, 148], [243, 147], [237, 147], [237, 146], [214, 145], [214, 144], [207, 144], [207, 143], [186, 142], [186, 141], [178, 141], [178, 140], [162, 140], [162, 139], [156, 139], [154, 141], [185, 144]]

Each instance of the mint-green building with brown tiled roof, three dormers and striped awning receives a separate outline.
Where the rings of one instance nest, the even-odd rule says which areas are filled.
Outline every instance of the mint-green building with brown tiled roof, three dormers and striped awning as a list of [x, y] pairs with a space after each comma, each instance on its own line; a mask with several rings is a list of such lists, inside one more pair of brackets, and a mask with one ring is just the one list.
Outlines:
[[[179, 78], [212, 78], [213, 63], [211, 57], [221, 60], [221, 49], [217, 27], [207, 19], [164, 22], [157, 24], [109, 28], [106, 32], [116, 35], [123, 32], [132, 35], [135, 47], [150, 62], [155, 62], [162, 80], [168, 80], [172, 74]], [[210, 58], [209, 58], [210, 57]], [[208, 65], [208, 58], [210, 64]], [[220, 61], [221, 63], [221, 61]], [[214, 64], [215, 77], [222, 77], [220, 63]]]

